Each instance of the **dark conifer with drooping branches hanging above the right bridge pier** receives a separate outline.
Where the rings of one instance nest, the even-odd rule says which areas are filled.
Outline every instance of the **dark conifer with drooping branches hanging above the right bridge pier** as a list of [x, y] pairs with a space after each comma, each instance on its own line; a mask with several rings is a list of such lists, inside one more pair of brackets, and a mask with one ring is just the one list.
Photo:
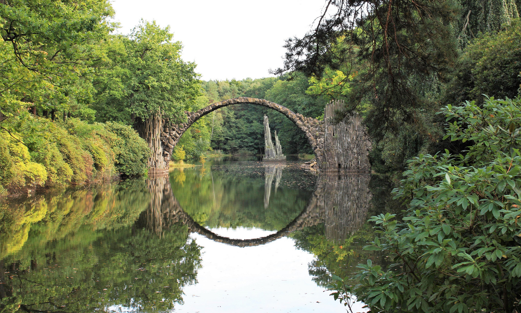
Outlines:
[[285, 65], [276, 72], [321, 78], [328, 68], [345, 70], [337, 80], [339, 86], [351, 82], [343, 116], [369, 104], [365, 123], [371, 137], [381, 139], [416, 123], [431, 105], [424, 90], [457, 58], [459, 10], [457, 1], [329, 1], [315, 29], [287, 41]]

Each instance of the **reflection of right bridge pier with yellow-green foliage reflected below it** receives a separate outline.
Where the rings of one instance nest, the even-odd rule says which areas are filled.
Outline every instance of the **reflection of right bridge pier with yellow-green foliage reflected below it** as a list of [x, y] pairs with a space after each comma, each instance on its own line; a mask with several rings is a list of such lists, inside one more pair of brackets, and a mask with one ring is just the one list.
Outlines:
[[[324, 223], [304, 227], [293, 238], [296, 247], [315, 255], [308, 264], [309, 274], [318, 285], [327, 286], [332, 282], [331, 274], [348, 277], [367, 259], [382, 264], [380, 252], [362, 248], [375, 236], [373, 226], [366, 222], [368, 215], [383, 208], [375, 207], [375, 200], [383, 204], [383, 198], [392, 198], [392, 188], [370, 174], [324, 175], [320, 182]], [[374, 198], [372, 190], [377, 190], [380, 198]]]

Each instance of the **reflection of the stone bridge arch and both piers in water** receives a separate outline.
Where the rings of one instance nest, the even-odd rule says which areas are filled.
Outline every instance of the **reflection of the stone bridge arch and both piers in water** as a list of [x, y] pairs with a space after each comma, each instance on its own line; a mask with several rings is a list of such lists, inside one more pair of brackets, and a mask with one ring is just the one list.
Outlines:
[[208, 239], [238, 247], [264, 245], [306, 226], [325, 224], [328, 239], [341, 240], [354, 234], [365, 222], [370, 205], [369, 174], [319, 176], [318, 183], [306, 208], [286, 227], [274, 234], [254, 239], [232, 239], [213, 233], [195, 222], [172, 194], [168, 176], [147, 180], [152, 194], [151, 203], [137, 222], [161, 234], [164, 228], [174, 223], [188, 226], [190, 232], [199, 233]]

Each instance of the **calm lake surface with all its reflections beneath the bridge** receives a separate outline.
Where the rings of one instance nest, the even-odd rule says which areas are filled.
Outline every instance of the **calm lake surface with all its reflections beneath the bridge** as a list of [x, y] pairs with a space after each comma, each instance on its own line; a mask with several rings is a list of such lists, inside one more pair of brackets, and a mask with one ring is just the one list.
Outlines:
[[388, 187], [301, 163], [214, 159], [2, 203], [0, 309], [345, 312], [325, 286], [380, 257], [364, 222]]

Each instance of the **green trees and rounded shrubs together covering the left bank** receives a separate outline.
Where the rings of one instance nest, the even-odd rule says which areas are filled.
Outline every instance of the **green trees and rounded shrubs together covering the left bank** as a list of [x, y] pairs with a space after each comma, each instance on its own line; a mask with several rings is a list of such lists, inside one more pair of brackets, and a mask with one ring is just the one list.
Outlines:
[[[0, 3], [0, 193], [146, 174], [134, 130], [202, 95], [168, 27], [111, 34], [108, 1]], [[138, 21], [137, 21], [138, 22]]]

